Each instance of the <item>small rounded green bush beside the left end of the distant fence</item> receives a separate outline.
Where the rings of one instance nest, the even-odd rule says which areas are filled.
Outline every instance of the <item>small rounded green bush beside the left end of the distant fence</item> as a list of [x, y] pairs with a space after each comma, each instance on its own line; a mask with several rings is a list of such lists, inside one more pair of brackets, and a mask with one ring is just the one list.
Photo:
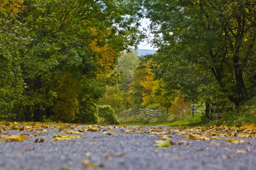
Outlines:
[[107, 124], [116, 124], [118, 125], [119, 122], [116, 119], [115, 111], [113, 108], [111, 108], [110, 105], [103, 105], [103, 106], [98, 106], [98, 116], [105, 119], [104, 123]]

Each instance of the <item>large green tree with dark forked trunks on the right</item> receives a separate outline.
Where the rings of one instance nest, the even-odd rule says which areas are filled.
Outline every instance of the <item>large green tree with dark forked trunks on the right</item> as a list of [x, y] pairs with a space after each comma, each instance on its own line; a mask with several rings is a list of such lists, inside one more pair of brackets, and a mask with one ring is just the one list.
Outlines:
[[[253, 0], [146, 0], [145, 8], [152, 20], [154, 43], [163, 54], [160, 63], [177, 61], [185, 66], [183, 72], [192, 71], [193, 79], [196, 74], [210, 77], [208, 82], [200, 77], [196, 82], [207, 83], [219, 91], [208, 97], [227, 97], [236, 106], [255, 89]], [[170, 69], [166, 65], [160, 70], [168, 77]]]

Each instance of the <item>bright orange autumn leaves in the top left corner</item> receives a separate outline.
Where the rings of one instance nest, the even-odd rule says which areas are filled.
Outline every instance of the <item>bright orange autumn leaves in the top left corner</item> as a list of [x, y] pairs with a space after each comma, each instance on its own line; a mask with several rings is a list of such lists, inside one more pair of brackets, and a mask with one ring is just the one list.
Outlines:
[[22, 2], [23, 0], [1, 0], [0, 12], [3, 14], [8, 12], [12, 12], [12, 14], [17, 14], [26, 7], [22, 4]]

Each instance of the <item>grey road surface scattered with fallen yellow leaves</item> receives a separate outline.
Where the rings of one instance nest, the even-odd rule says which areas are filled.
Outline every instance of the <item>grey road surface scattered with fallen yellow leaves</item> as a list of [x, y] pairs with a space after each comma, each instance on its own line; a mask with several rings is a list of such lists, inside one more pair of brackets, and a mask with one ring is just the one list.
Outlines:
[[[87, 126], [81, 125], [75, 130], [79, 128]], [[47, 132], [2, 130], [0, 136], [23, 134], [29, 140], [0, 141], [0, 170], [256, 170], [254, 138], [191, 140], [186, 139], [186, 130], [180, 134], [183, 131], [172, 126], [100, 128], [97, 132], [84, 131], [80, 139], [66, 141], [49, 140], [55, 134], [67, 135], [65, 130], [58, 131], [58, 127], [44, 128]], [[133, 133], [125, 133], [127, 128]], [[69, 130], [74, 128], [69, 127]], [[117, 134], [102, 134], [103, 131]], [[35, 132], [38, 136], [29, 136]], [[163, 132], [165, 137], [172, 137], [175, 144], [153, 146]], [[44, 142], [35, 142], [38, 138]], [[226, 139], [243, 139], [250, 143], [233, 144]]]

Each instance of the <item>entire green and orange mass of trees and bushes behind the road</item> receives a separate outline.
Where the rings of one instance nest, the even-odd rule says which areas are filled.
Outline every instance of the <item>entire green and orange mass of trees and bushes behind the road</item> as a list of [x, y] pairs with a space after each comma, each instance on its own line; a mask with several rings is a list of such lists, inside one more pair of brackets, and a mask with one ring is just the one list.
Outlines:
[[[0, 121], [254, 123], [255, 14], [253, 0], [3, 0]], [[147, 38], [158, 50], [138, 57]], [[192, 117], [216, 100], [233, 109]], [[169, 113], [116, 119], [140, 108]]]

